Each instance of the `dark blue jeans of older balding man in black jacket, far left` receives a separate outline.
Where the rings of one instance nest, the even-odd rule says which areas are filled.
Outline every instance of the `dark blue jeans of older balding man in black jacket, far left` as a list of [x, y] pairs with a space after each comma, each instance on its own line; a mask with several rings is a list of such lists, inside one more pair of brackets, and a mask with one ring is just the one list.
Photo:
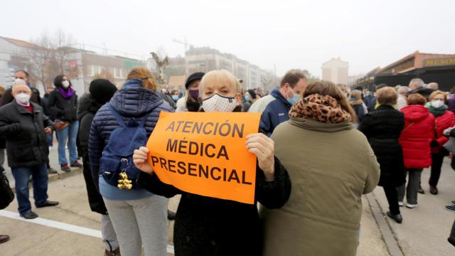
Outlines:
[[32, 167], [11, 167], [16, 181], [16, 197], [19, 205], [19, 213], [26, 213], [31, 210], [28, 200], [28, 177], [32, 176], [33, 198], [35, 206], [41, 206], [48, 200], [48, 169], [45, 164]]

